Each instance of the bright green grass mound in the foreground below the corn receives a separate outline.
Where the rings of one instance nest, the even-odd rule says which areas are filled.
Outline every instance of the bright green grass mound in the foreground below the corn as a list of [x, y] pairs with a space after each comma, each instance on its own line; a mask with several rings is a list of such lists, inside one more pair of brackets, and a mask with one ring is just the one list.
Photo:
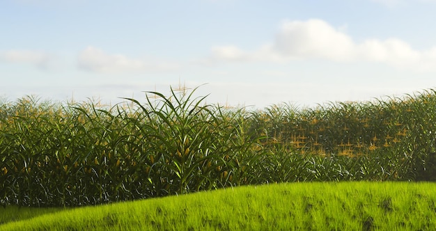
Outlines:
[[0, 217], [0, 230], [430, 230], [436, 184], [240, 186], [63, 211], [8, 206]]

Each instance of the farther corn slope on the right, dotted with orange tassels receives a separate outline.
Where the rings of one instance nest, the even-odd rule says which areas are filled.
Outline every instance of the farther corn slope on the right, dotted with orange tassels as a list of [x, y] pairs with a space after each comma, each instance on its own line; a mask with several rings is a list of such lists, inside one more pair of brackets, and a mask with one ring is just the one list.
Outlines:
[[323, 175], [316, 179], [435, 180], [435, 110], [436, 92], [426, 90], [313, 109], [273, 105], [248, 123], [265, 137], [265, 148], [306, 155], [309, 166], [318, 166], [311, 170]]

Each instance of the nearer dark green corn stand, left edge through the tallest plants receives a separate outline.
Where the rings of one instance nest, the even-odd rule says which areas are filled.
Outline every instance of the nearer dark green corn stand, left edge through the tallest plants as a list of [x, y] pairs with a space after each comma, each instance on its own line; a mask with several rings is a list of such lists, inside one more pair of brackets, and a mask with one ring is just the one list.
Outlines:
[[[146, 104], [37, 104], [24, 98], [0, 124], [2, 205], [77, 206], [252, 182], [242, 169], [262, 150], [243, 112], [192, 93]], [[245, 168], [245, 167], [244, 167]]]

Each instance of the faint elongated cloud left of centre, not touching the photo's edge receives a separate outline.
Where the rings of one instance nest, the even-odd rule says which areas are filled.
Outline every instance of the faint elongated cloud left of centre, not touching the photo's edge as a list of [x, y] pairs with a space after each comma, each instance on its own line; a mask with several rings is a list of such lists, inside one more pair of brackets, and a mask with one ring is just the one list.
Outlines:
[[106, 54], [101, 49], [86, 47], [78, 57], [78, 67], [91, 72], [125, 72], [144, 70], [171, 70], [177, 65], [172, 63], [155, 63], [143, 59], [128, 58], [121, 54]]

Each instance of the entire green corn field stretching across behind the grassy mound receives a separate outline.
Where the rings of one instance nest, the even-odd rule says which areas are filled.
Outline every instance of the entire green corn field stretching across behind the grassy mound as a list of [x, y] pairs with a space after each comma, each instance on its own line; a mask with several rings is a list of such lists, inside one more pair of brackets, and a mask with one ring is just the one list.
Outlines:
[[0, 204], [81, 206], [246, 184], [435, 180], [436, 91], [248, 111], [171, 89], [145, 102], [0, 103]]

